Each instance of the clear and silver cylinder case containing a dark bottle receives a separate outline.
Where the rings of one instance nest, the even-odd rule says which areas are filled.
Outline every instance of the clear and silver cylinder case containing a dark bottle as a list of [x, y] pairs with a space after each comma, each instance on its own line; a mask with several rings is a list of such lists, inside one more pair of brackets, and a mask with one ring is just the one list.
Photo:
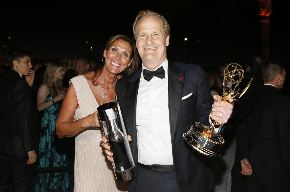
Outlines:
[[129, 145], [126, 128], [118, 102], [103, 104], [97, 108], [103, 133], [113, 150], [113, 168], [118, 181], [135, 177], [137, 170]]

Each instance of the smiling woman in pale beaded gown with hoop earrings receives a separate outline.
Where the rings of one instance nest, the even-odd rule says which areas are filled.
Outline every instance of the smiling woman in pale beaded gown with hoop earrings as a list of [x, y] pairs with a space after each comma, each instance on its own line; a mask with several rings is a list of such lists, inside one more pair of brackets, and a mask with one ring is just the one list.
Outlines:
[[135, 42], [124, 35], [111, 37], [103, 56], [104, 65], [99, 69], [70, 80], [56, 122], [60, 138], [76, 136], [75, 192], [127, 191], [127, 182], [116, 180], [112, 164], [99, 144], [102, 132], [97, 107], [104, 100], [114, 101], [116, 81], [137, 70], [139, 57]]

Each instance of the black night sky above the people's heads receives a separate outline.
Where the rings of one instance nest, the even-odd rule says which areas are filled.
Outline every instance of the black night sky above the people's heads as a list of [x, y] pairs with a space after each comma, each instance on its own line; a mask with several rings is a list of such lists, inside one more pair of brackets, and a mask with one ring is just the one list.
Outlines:
[[[277, 0], [272, 5], [270, 58], [289, 63], [287, 6]], [[26, 46], [37, 57], [74, 59], [91, 54], [101, 59], [109, 37], [133, 36], [132, 23], [143, 9], [157, 11], [169, 21], [171, 60], [199, 65], [245, 63], [261, 55], [257, 0], [2, 2], [0, 9], [0, 55]]]

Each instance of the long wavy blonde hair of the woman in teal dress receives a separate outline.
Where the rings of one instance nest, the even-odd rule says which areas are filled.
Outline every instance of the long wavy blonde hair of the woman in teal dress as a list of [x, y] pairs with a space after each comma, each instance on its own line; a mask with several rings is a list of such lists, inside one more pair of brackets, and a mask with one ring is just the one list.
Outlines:
[[57, 61], [52, 61], [47, 64], [47, 68], [43, 74], [43, 82], [45, 82], [49, 86], [49, 92], [52, 97], [57, 95], [57, 89], [60, 91], [63, 90], [63, 82], [61, 79], [57, 79], [56, 82], [53, 82], [53, 74], [57, 68], [63, 67], [63, 64]]

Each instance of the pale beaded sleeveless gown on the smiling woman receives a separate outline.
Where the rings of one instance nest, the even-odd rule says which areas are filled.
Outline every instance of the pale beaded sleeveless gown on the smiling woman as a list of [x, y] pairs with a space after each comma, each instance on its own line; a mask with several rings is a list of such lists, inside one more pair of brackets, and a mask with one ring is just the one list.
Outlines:
[[[79, 102], [74, 119], [81, 119], [97, 111], [98, 102], [85, 77], [79, 75], [70, 81]], [[76, 136], [74, 192], [127, 191], [127, 182], [116, 180], [112, 163], [107, 160], [100, 141], [101, 128], [87, 129]]]

